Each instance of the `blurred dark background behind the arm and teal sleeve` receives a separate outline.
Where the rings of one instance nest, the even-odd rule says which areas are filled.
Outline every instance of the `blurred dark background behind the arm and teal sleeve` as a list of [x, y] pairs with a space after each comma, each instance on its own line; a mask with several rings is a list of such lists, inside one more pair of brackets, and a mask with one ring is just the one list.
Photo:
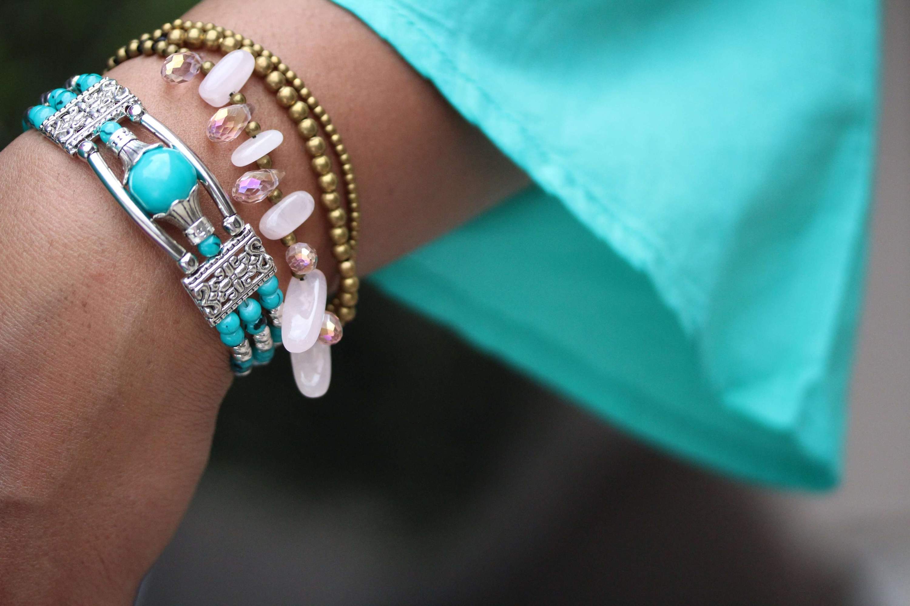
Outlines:
[[[43, 91], [192, 4], [5, 2], [0, 145]], [[368, 285], [328, 396], [299, 396], [285, 353], [235, 383], [139, 603], [910, 603], [908, 34], [894, 0], [839, 492], [781, 495], [674, 462]]]

